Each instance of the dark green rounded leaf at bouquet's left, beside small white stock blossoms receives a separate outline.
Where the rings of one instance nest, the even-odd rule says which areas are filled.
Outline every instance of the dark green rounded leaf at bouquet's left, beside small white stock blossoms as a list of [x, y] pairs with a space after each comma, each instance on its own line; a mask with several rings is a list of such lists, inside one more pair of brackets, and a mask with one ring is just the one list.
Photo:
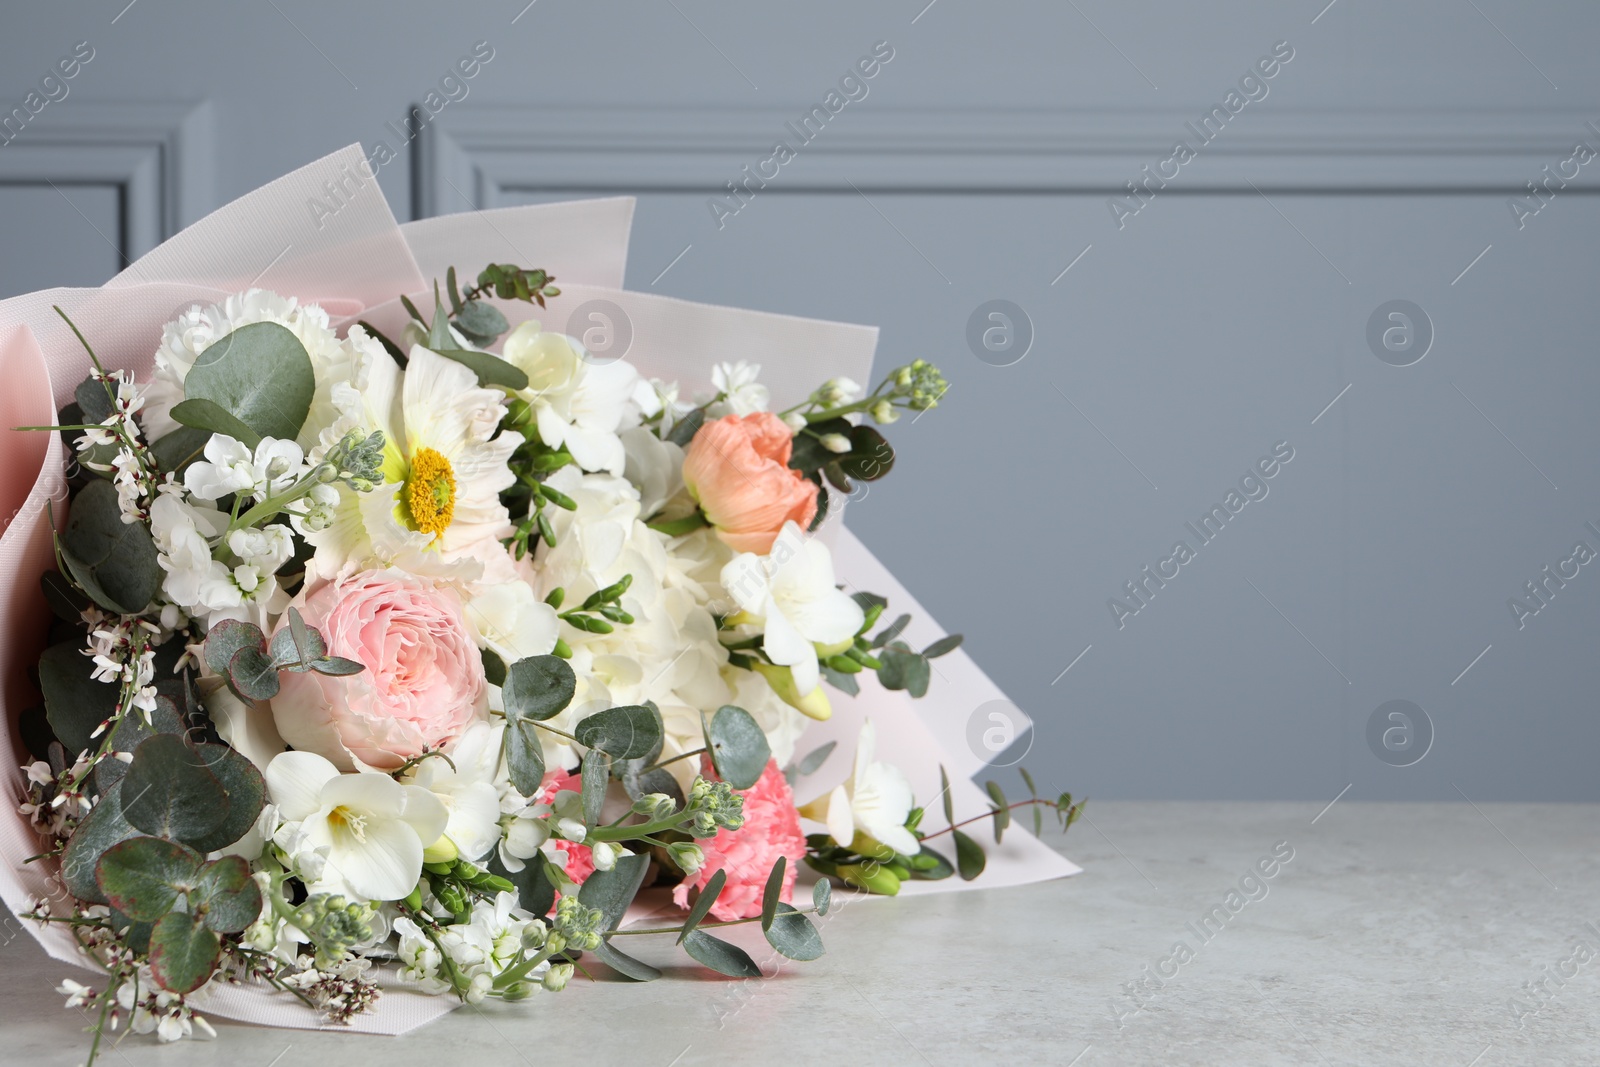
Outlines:
[[96, 480], [78, 490], [59, 552], [78, 589], [115, 614], [144, 611], [162, 587], [150, 528], [122, 522], [117, 486], [110, 482]]

